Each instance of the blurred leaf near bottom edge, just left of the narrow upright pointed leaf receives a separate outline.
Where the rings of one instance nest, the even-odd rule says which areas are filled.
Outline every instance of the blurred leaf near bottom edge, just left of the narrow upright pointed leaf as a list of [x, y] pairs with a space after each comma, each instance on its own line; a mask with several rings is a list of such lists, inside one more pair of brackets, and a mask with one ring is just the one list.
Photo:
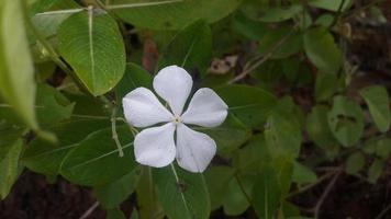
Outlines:
[[239, 176], [232, 177], [231, 181], [225, 184], [227, 188], [223, 198], [223, 207], [224, 214], [227, 216], [238, 216], [246, 211], [250, 205], [244, 194], [244, 191], [246, 194], [250, 195], [254, 181], [248, 177], [241, 177], [239, 183], [238, 177]]

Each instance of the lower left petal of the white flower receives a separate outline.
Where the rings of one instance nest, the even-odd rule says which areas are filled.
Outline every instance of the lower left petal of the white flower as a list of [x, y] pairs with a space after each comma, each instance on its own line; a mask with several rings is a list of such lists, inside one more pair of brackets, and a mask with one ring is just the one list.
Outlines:
[[175, 125], [168, 123], [159, 127], [142, 130], [134, 139], [134, 155], [144, 165], [163, 168], [176, 157], [174, 142]]

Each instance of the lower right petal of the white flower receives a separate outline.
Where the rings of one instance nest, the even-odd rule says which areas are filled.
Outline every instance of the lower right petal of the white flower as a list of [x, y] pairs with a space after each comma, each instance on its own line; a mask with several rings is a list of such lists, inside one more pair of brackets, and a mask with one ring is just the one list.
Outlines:
[[194, 131], [185, 124], [177, 126], [177, 161], [190, 172], [203, 172], [216, 153], [216, 143], [205, 134]]

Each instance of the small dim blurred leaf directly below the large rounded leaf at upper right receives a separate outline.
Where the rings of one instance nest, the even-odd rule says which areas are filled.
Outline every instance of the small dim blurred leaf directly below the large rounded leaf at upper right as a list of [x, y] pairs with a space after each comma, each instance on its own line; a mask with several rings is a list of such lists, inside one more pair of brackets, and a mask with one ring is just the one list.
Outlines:
[[315, 100], [316, 102], [328, 101], [338, 90], [338, 78], [335, 73], [316, 74]]

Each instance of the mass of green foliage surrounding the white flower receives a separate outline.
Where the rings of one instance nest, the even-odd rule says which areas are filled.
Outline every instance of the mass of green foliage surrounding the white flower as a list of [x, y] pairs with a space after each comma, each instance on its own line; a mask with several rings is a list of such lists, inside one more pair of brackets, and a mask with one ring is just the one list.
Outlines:
[[[376, 183], [391, 153], [390, 102], [381, 84], [351, 85], [340, 26], [357, 9], [284, 2], [0, 1], [0, 198], [29, 169], [92, 187], [108, 218], [125, 218], [132, 196], [132, 218], [293, 219], [303, 214], [290, 197], [322, 181], [323, 164]], [[230, 107], [223, 125], [198, 129], [217, 145], [204, 173], [133, 154], [138, 130], [121, 100], [169, 65]], [[304, 145], [320, 155], [306, 159]]]

